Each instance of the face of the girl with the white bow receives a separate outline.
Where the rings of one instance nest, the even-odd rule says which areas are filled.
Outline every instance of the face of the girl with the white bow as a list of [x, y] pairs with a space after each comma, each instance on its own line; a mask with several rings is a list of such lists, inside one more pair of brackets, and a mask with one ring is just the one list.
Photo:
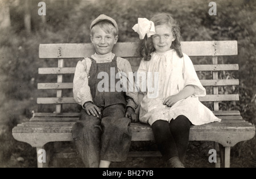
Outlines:
[[172, 35], [171, 27], [167, 24], [156, 25], [155, 35], [152, 36], [152, 41], [156, 52], [166, 52], [171, 49], [172, 42], [175, 37]]

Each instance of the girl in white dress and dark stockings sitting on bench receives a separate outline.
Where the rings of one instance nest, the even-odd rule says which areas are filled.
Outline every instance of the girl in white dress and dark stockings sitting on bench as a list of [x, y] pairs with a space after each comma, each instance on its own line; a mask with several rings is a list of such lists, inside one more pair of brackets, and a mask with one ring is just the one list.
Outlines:
[[[146, 91], [139, 93], [139, 119], [151, 125], [167, 167], [183, 168], [190, 126], [221, 120], [198, 99], [206, 95], [205, 88], [191, 59], [181, 52], [180, 29], [172, 16], [156, 14], [151, 21], [139, 18], [133, 29], [143, 39], [138, 76], [151, 73], [150, 80], [137, 80], [141, 89], [147, 84]], [[152, 89], [158, 95], [152, 97]]]

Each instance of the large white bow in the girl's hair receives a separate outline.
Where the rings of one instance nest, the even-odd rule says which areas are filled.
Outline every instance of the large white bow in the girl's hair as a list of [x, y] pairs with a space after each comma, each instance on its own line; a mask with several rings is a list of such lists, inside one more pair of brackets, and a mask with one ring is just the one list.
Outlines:
[[146, 18], [138, 18], [138, 24], [133, 26], [133, 30], [139, 34], [139, 39], [144, 39], [155, 34], [155, 24], [154, 22]]

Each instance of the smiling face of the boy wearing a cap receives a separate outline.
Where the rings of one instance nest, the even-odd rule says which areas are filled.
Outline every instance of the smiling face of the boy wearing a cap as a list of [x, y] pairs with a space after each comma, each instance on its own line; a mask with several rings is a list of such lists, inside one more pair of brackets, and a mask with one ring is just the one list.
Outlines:
[[93, 35], [90, 36], [90, 40], [99, 55], [112, 52], [115, 44], [117, 44], [118, 36], [114, 36], [113, 33], [106, 33], [100, 27], [94, 27]]

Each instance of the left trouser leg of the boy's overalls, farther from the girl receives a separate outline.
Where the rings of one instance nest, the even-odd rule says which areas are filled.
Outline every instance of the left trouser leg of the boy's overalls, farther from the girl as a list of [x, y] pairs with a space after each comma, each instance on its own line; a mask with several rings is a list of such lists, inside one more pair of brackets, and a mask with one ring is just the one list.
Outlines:
[[73, 139], [85, 167], [98, 168], [100, 163], [100, 118], [88, 115], [81, 111], [80, 121], [73, 126]]

